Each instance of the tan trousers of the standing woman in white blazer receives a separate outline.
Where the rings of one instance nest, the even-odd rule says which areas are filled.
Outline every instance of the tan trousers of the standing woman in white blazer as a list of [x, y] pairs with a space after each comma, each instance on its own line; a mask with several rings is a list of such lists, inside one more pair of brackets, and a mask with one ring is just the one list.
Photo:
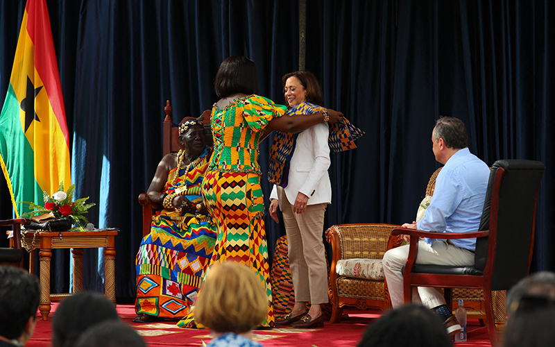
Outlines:
[[280, 203], [295, 301], [327, 303], [327, 265], [322, 237], [327, 203], [307, 205], [307, 210], [301, 214], [293, 212], [293, 205], [285, 194]]

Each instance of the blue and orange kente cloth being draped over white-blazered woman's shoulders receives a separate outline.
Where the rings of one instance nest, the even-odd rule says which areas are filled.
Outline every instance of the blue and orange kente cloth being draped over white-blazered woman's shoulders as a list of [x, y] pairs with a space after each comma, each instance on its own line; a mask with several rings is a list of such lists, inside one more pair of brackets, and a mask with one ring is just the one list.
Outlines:
[[[314, 105], [314, 103], [300, 103], [291, 108], [288, 115], [313, 115], [322, 112], [325, 108]], [[364, 131], [352, 125], [345, 117], [334, 124], [330, 124], [330, 137], [327, 143], [334, 152], [356, 149], [355, 140], [364, 135]], [[289, 177], [289, 162], [295, 151], [298, 133], [276, 132], [270, 153], [270, 169], [268, 180], [271, 183], [287, 187]]]

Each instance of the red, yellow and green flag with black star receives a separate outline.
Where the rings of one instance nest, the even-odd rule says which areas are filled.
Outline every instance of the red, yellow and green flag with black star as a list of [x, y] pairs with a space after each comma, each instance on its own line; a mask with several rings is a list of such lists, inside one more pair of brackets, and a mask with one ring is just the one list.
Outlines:
[[28, 0], [0, 115], [0, 164], [15, 214], [71, 185], [69, 135], [46, 0]]

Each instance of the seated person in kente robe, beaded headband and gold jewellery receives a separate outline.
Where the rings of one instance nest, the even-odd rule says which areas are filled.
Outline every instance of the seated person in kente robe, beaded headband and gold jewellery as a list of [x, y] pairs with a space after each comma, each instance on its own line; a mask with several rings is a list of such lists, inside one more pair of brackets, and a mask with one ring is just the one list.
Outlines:
[[179, 141], [184, 149], [162, 158], [147, 191], [163, 209], [137, 253], [134, 322], [185, 316], [214, 251], [216, 227], [200, 196], [211, 155], [202, 119], [182, 121]]

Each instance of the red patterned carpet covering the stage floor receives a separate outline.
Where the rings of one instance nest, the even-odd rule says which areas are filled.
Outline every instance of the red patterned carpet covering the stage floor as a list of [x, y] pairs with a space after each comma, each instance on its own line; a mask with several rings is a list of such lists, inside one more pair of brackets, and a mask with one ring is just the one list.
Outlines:
[[[27, 347], [51, 346], [51, 322], [56, 315], [56, 303], [53, 304], [53, 313], [48, 321], [42, 321], [37, 314], [37, 326], [33, 338], [28, 341]], [[202, 346], [203, 341], [210, 341], [210, 331], [196, 329], [182, 329], [176, 322], [164, 321], [158, 323], [133, 323], [135, 307], [133, 305], [117, 305], [117, 311], [123, 322], [135, 328], [150, 347], [154, 346]], [[357, 346], [368, 323], [382, 314], [380, 311], [344, 310], [349, 315], [341, 323], [324, 323], [324, 328], [294, 329], [276, 328], [272, 330], [256, 330], [254, 339], [265, 347], [295, 346], [295, 347], [339, 347]], [[491, 346], [488, 339], [488, 330], [479, 325], [477, 320], [470, 320], [468, 327], [468, 341], [454, 343], [456, 347], [466, 346]]]

